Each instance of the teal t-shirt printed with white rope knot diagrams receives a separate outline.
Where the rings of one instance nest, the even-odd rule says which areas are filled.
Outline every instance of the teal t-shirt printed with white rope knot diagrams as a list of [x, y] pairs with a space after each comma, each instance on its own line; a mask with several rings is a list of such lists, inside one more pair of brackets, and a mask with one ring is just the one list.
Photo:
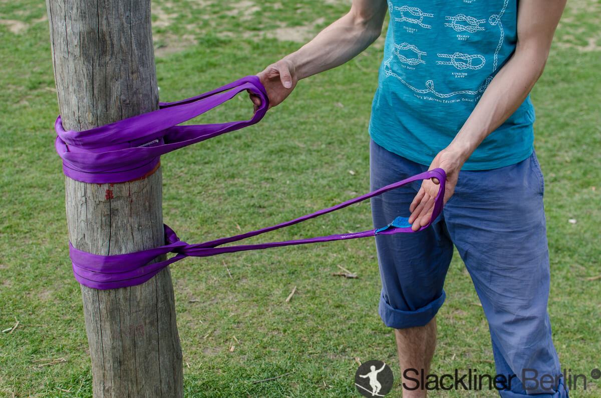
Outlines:
[[[390, 23], [371, 138], [429, 165], [447, 147], [517, 40], [517, 0], [389, 0]], [[463, 170], [516, 164], [532, 153], [529, 97], [478, 146]]]

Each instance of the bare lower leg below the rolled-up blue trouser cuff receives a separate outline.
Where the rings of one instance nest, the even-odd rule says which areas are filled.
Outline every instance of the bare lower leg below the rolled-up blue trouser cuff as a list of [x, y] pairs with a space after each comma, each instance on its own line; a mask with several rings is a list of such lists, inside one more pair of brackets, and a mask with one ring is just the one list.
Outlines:
[[[398, 363], [401, 372], [405, 369], [416, 369], [417, 372], [424, 372], [424, 376], [430, 371], [430, 363], [436, 347], [436, 318], [433, 318], [425, 326], [416, 326], [415, 328], [395, 329], [394, 335], [397, 340]], [[415, 373], [409, 373], [407, 376], [419, 379]], [[401, 373], [402, 378], [402, 373]], [[404, 378], [402, 382], [405, 383]], [[415, 387], [415, 382], [408, 380], [407, 387]], [[424, 398], [427, 396], [427, 390], [407, 390], [403, 388], [404, 398]]]

